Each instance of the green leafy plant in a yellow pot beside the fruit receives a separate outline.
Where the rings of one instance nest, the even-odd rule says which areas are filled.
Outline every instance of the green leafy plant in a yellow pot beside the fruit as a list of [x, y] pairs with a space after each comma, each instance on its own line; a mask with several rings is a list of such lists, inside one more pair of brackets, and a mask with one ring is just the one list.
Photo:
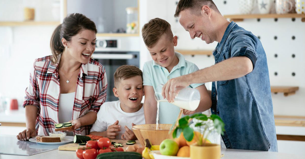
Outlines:
[[[190, 127], [192, 119], [198, 119], [195, 127], [199, 128], [199, 133], [194, 132]], [[211, 132], [223, 134], [224, 122], [215, 114], [206, 116], [204, 114], [194, 114], [192, 116], [184, 116], [179, 119], [178, 126], [174, 129], [173, 138], [179, 137], [183, 132], [183, 137], [186, 141], [192, 141], [193, 138], [196, 143], [190, 145], [190, 158], [209, 158], [220, 159], [220, 145], [207, 142], [207, 137]]]

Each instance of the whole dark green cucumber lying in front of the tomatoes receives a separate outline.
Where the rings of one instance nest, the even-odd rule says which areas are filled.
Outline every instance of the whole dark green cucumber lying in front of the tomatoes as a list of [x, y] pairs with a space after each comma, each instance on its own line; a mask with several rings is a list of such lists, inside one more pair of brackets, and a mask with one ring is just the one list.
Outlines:
[[142, 159], [137, 152], [106, 152], [97, 155], [97, 159]]

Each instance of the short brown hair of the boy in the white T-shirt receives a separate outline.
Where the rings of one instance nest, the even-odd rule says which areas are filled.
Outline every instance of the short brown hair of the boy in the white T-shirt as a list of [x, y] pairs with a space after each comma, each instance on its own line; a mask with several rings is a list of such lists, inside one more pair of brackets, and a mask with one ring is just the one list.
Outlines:
[[135, 76], [141, 76], [142, 80], [142, 71], [133, 65], [122, 65], [114, 72], [114, 87], [117, 87], [121, 79], [128, 79]]

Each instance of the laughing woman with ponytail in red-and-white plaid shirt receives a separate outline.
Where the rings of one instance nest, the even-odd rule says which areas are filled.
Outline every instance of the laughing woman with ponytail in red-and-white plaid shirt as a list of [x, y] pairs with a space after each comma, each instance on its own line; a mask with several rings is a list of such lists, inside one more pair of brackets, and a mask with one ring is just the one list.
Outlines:
[[27, 129], [17, 135], [28, 140], [54, 132], [54, 123], [71, 122], [67, 135], [87, 135], [106, 100], [106, 72], [91, 59], [96, 27], [86, 16], [74, 13], [56, 27], [51, 37], [52, 55], [38, 58], [30, 73], [23, 103]]

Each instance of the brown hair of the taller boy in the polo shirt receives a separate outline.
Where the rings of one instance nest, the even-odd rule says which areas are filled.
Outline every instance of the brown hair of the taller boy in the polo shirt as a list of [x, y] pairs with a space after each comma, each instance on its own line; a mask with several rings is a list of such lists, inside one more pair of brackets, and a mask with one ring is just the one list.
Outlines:
[[149, 48], [154, 47], [164, 33], [168, 35], [169, 40], [173, 38], [170, 23], [160, 18], [149, 20], [142, 28], [144, 43]]

